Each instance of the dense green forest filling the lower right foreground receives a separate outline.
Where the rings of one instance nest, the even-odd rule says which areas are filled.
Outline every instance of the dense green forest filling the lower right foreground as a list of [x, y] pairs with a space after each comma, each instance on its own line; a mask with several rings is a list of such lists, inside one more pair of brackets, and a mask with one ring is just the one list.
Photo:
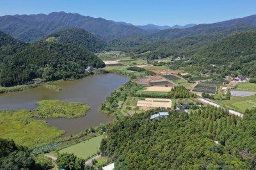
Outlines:
[[208, 106], [150, 121], [155, 112], [109, 124], [100, 151], [115, 169], [255, 169], [256, 110], [241, 120]]

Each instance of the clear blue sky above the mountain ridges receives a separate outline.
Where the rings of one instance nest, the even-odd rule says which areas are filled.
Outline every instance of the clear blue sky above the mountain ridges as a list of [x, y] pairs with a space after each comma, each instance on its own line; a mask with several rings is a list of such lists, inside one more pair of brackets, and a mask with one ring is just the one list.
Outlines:
[[79, 13], [135, 25], [213, 23], [256, 14], [256, 0], [0, 0], [0, 15]]

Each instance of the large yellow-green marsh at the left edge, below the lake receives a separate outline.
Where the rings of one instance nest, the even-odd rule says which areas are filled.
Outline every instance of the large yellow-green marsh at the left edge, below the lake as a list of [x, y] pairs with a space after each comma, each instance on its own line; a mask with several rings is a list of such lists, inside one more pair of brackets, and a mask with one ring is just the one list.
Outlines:
[[17, 144], [35, 148], [43, 143], [51, 143], [65, 133], [31, 116], [33, 116], [31, 110], [0, 111], [0, 137], [13, 139]]

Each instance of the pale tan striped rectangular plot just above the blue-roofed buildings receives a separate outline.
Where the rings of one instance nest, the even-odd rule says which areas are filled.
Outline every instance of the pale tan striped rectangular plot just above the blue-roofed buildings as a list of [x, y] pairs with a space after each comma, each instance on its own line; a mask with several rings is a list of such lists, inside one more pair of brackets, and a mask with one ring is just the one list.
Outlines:
[[161, 109], [171, 109], [172, 100], [166, 98], [145, 98], [145, 100], [138, 100], [138, 107], [160, 107]]

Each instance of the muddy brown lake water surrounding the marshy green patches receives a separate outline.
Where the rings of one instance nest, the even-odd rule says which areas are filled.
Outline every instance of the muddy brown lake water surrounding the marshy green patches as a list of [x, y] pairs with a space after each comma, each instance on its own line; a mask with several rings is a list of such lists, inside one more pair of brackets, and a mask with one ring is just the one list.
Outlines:
[[54, 91], [43, 86], [0, 95], [0, 109], [36, 109], [36, 102], [46, 99], [58, 99], [68, 102], [83, 102], [92, 109], [86, 112], [86, 116], [75, 119], [49, 118], [44, 119], [49, 125], [65, 130], [65, 135], [78, 134], [82, 130], [96, 127], [100, 123], [107, 123], [113, 118], [99, 112], [102, 102], [111, 92], [119, 88], [127, 77], [115, 74], [90, 75], [83, 79], [67, 82], [56, 82], [62, 91]]

